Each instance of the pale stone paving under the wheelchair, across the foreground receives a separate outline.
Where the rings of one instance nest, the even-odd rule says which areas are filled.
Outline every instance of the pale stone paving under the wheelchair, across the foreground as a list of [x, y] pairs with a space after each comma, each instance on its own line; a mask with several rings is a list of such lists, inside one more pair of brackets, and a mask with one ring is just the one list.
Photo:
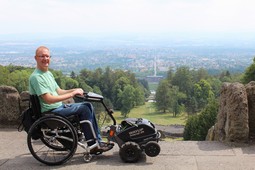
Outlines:
[[33, 158], [26, 144], [26, 133], [0, 129], [1, 170], [93, 169], [93, 170], [255, 170], [254, 144], [223, 144], [209, 141], [161, 141], [157, 157], [142, 156], [138, 163], [123, 163], [116, 145], [112, 150], [83, 161], [82, 148], [60, 166], [47, 166]]

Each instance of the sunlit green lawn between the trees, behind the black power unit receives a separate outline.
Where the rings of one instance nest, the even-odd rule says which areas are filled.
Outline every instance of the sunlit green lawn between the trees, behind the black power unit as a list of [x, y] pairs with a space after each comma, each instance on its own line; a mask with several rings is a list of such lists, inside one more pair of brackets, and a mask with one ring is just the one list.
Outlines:
[[[153, 106], [154, 103], [146, 103], [143, 106], [134, 108], [131, 110], [131, 112], [128, 114], [128, 117], [130, 118], [145, 118], [153, 122], [157, 125], [173, 125], [173, 124], [179, 124], [179, 125], [185, 125], [185, 121], [187, 119], [186, 114], [180, 114], [176, 117], [173, 117], [172, 113], [161, 113], [157, 112]], [[114, 112], [114, 117], [117, 121], [117, 124], [119, 124], [122, 120], [125, 118], [121, 116], [121, 113], [119, 111]]]

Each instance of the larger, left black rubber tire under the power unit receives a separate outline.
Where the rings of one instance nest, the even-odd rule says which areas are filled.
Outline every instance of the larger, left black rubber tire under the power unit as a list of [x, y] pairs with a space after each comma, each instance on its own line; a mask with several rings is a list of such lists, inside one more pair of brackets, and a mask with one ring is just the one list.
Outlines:
[[120, 158], [127, 163], [137, 162], [141, 156], [142, 150], [135, 142], [124, 143], [119, 151]]

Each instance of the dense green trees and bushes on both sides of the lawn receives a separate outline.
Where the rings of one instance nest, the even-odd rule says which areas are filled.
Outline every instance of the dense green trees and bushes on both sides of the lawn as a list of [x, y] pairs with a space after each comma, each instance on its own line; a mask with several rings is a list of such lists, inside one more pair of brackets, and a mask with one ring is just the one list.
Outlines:
[[[0, 85], [13, 86], [19, 92], [27, 91], [28, 79], [33, 70], [34, 68], [22, 66], [0, 65]], [[124, 117], [128, 117], [132, 108], [144, 105], [150, 95], [148, 82], [137, 79], [130, 71], [106, 67], [93, 71], [82, 69], [79, 74], [71, 72], [70, 76], [65, 76], [58, 70], [50, 71], [61, 88], [80, 87], [85, 91], [101, 94], [108, 105], [119, 110]], [[166, 75], [156, 90], [156, 110], [173, 116], [187, 113], [190, 116], [184, 139], [204, 140], [207, 130], [216, 120], [222, 84], [246, 84], [255, 80], [255, 58], [244, 73], [231, 74], [228, 70], [222, 70], [218, 75], [210, 75], [204, 68], [194, 70], [181, 66], [176, 71], [170, 68]]]

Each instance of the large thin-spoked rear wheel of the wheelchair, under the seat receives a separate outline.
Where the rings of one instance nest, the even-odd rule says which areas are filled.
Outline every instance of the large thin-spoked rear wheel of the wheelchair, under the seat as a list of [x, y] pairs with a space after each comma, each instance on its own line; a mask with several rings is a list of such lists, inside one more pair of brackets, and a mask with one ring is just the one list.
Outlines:
[[77, 149], [74, 126], [60, 116], [44, 116], [30, 128], [27, 136], [29, 151], [47, 165], [60, 165], [73, 157]]

